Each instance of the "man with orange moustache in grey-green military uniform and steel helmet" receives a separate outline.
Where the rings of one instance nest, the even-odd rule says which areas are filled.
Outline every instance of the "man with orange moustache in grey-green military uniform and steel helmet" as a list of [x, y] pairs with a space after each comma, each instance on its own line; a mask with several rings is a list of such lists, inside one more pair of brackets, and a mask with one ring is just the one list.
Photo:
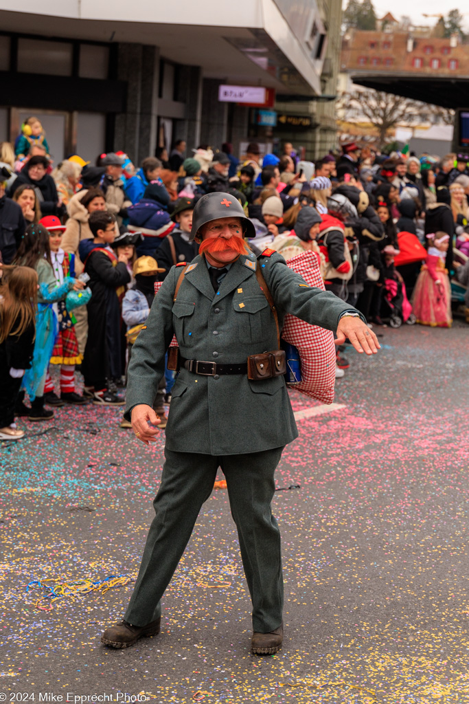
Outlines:
[[379, 348], [354, 308], [307, 286], [275, 251], [256, 258], [244, 235], [254, 237], [254, 226], [233, 196], [203, 196], [191, 231], [201, 242], [200, 253], [191, 265], [169, 271], [134, 344], [126, 413], [146, 444], [158, 433], [152, 405], [173, 332], [181, 370], [172, 389], [166, 461], [139, 577], [124, 620], [107, 627], [101, 639], [114, 648], [160, 632], [160, 599], [218, 467], [226, 477], [252, 599], [252, 653], [281, 648], [281, 540], [271, 500], [283, 448], [298, 433], [283, 376], [249, 378], [248, 357], [278, 349], [276, 322], [281, 329], [285, 313], [337, 331], [338, 343], [348, 337], [359, 352], [371, 355]]

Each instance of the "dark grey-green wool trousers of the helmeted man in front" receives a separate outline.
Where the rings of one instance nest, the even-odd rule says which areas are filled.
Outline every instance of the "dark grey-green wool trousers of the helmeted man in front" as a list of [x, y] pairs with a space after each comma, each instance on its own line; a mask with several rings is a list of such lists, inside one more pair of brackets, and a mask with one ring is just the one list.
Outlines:
[[145, 626], [161, 615], [161, 598], [191, 537], [218, 467], [224, 472], [231, 515], [252, 601], [252, 627], [269, 633], [282, 622], [281, 539], [271, 512], [274, 473], [283, 447], [246, 455], [201, 455], [165, 450], [160, 489], [134, 593], [124, 619]]

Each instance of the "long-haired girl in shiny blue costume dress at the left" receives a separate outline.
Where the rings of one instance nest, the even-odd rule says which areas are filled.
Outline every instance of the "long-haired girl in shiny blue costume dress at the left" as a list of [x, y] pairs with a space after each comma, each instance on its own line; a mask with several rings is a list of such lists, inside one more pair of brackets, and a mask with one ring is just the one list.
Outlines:
[[49, 232], [44, 225], [29, 225], [26, 228], [25, 237], [18, 247], [13, 263], [36, 270], [39, 283], [32, 367], [26, 370], [23, 377], [23, 387], [31, 401], [28, 420], [51, 420], [53, 411], [44, 408], [44, 384], [58, 329], [57, 313], [53, 304], [65, 298], [68, 291], [77, 291], [84, 285], [70, 275], [64, 277], [60, 286], [57, 285], [52, 267]]

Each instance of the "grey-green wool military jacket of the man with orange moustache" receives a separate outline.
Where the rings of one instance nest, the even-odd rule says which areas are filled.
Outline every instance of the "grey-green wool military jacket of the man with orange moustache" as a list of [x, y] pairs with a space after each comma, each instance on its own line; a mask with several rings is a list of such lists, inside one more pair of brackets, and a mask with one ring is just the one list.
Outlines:
[[[278, 253], [240, 256], [214, 293], [207, 263], [197, 256], [174, 289], [182, 268], [172, 267], [155, 296], [146, 329], [132, 348], [126, 417], [139, 403], [153, 405], [165, 373], [173, 332], [186, 359], [245, 363], [248, 355], [278, 347], [276, 325], [259, 289], [257, 266], [274, 298], [283, 327], [285, 313], [335, 331], [340, 315], [354, 310], [329, 291], [305, 286]], [[298, 435], [283, 377], [252, 382], [247, 375], [218, 379], [182, 368], [172, 388], [166, 446], [176, 452], [233, 455], [281, 447]]]

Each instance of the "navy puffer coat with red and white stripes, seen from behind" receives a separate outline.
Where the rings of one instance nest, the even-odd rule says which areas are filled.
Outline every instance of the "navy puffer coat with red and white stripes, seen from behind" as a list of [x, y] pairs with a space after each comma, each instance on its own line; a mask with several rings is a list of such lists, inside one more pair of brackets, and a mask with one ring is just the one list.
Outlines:
[[153, 256], [169, 232], [174, 230], [174, 222], [169, 218], [165, 206], [150, 198], [143, 198], [127, 209], [129, 225], [136, 227], [143, 234], [143, 242], [136, 248], [139, 257], [148, 254]]

